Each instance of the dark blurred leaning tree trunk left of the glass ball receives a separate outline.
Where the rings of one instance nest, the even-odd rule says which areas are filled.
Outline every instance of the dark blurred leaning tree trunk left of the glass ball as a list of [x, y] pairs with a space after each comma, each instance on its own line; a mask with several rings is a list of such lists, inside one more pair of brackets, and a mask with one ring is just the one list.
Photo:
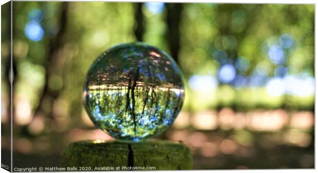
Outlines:
[[[34, 112], [34, 115], [37, 113], [44, 111], [42, 104], [45, 100], [46, 97], [51, 97], [53, 99], [57, 98], [59, 93], [61, 92], [62, 89], [59, 89], [57, 91], [52, 91], [49, 88], [49, 79], [54, 75], [55, 73], [61, 73], [58, 69], [61, 69], [61, 65], [63, 64], [57, 64], [59, 62], [59, 59], [63, 58], [61, 55], [58, 55], [58, 52], [61, 51], [61, 49], [64, 46], [64, 41], [63, 38], [66, 36], [66, 25], [67, 25], [67, 13], [68, 13], [68, 3], [63, 2], [62, 3], [62, 9], [61, 9], [61, 17], [60, 17], [60, 22], [61, 22], [61, 28], [57, 32], [56, 36], [53, 38], [50, 38], [49, 40], [49, 53], [47, 57], [47, 61], [44, 64], [44, 67], [46, 69], [46, 74], [45, 74], [45, 84], [43, 87], [43, 91], [41, 96], [39, 97], [39, 103], [38, 106], [36, 107], [36, 110]], [[62, 87], [63, 88], [63, 87]], [[50, 100], [50, 109], [52, 109], [52, 104], [53, 100]], [[50, 116], [52, 116], [52, 111], [50, 112]]]

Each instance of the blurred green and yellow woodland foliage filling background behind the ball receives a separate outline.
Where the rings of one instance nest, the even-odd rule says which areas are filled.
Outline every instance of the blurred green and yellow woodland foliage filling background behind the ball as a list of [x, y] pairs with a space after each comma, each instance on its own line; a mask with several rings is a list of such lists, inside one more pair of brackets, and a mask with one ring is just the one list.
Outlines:
[[[15, 75], [14, 97], [27, 100], [31, 113], [53, 117], [62, 115], [72, 119], [57, 123], [61, 126], [82, 124], [78, 117], [83, 114], [83, 85], [85, 75], [101, 52], [123, 42], [135, 41], [137, 20], [134, 3], [103, 2], [13, 2], [13, 59]], [[266, 82], [274, 76], [277, 64], [269, 59], [271, 46], [280, 45], [283, 34], [293, 39], [290, 48], [284, 48], [288, 75], [314, 75], [314, 6], [313, 5], [242, 5], [242, 4], [182, 4], [180, 23], [180, 50], [178, 63], [186, 82], [185, 111], [218, 109], [230, 106], [247, 111], [263, 107], [284, 107], [292, 110], [312, 110], [313, 95], [295, 96], [284, 94], [271, 96], [265, 89]], [[26, 36], [26, 25], [31, 12], [40, 10], [38, 19], [44, 30], [41, 40]], [[152, 13], [142, 5], [144, 24], [143, 40], [167, 52], [170, 43], [166, 37], [167, 5], [161, 13]], [[4, 14], [4, 19], [6, 15]], [[7, 31], [8, 21], [2, 29]], [[4, 32], [3, 32], [4, 33]], [[2, 34], [3, 34], [2, 33]], [[171, 36], [170, 36], [171, 37]], [[174, 37], [174, 36], [172, 36]], [[9, 37], [3, 34], [3, 56], [8, 56]], [[217, 51], [226, 57], [220, 58]], [[235, 87], [233, 83], [217, 81], [222, 64], [235, 64], [244, 59], [249, 66], [236, 74], [248, 80], [257, 70], [267, 71], [265, 81], [256, 87]], [[6, 59], [2, 61], [5, 72]], [[223, 62], [225, 61], [225, 62]], [[7, 83], [2, 73], [3, 83]], [[189, 85], [194, 75], [212, 76], [216, 88], [197, 91]], [[204, 85], [204, 83], [202, 84]], [[209, 88], [205, 87], [206, 89]], [[210, 89], [209, 89], [210, 90]], [[7, 93], [6, 87], [2, 93]], [[6, 96], [8, 97], [8, 95]], [[9, 97], [8, 97], [9, 98]], [[57, 101], [63, 100], [64, 110], [58, 112]], [[55, 108], [54, 108], [55, 107]], [[85, 115], [86, 116], [86, 115]], [[66, 123], [63, 125], [63, 123]]]

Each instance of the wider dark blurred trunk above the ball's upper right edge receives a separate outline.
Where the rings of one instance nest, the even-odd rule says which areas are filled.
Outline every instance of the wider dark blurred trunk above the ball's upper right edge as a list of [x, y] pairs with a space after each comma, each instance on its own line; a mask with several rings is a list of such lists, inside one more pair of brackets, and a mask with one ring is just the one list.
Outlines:
[[167, 26], [166, 39], [172, 58], [178, 63], [178, 52], [180, 50], [180, 20], [182, 12], [181, 3], [167, 3]]

